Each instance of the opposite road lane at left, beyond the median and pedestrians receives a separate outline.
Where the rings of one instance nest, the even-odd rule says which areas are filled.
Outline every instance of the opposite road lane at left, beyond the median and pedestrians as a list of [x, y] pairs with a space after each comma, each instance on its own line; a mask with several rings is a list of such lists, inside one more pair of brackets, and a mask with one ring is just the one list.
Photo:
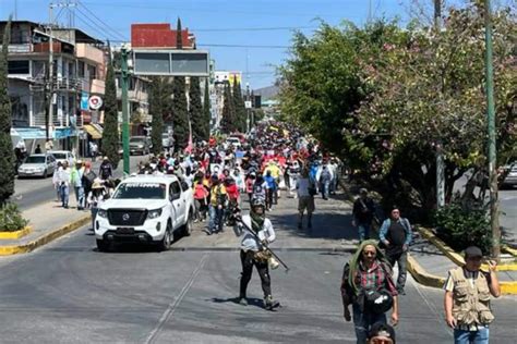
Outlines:
[[[135, 171], [136, 164], [145, 159], [142, 156], [132, 156], [130, 158], [130, 170]], [[95, 173], [98, 172], [100, 161], [94, 163]], [[123, 161], [120, 160], [118, 169], [116, 170], [116, 176], [122, 175]], [[12, 199], [19, 205], [20, 209], [27, 209], [38, 204], [56, 199], [56, 191], [52, 185], [52, 179], [22, 179], [15, 180], [14, 195]], [[73, 196], [72, 196], [73, 197]]]

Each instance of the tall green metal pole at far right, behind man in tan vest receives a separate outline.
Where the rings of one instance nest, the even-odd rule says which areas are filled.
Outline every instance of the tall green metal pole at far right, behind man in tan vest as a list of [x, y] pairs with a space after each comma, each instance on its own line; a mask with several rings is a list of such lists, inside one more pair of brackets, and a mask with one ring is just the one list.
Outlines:
[[489, 130], [489, 180], [490, 180], [490, 224], [492, 229], [492, 257], [498, 259], [501, 254], [501, 229], [497, 196], [497, 172], [495, 150], [495, 105], [494, 70], [492, 58], [492, 9], [490, 0], [484, 0], [484, 44], [486, 73], [486, 122]]

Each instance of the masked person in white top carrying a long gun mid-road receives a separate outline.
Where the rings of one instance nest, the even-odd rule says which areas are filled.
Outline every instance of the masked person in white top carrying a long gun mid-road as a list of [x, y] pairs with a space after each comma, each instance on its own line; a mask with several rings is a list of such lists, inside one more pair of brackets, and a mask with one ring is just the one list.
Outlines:
[[252, 201], [249, 216], [242, 217], [242, 222], [256, 233], [257, 239], [245, 226], [241, 226], [243, 237], [241, 242], [241, 263], [242, 277], [240, 283], [239, 303], [243, 306], [248, 305], [247, 288], [250, 283], [253, 267], [256, 268], [261, 277], [262, 291], [264, 292], [264, 308], [272, 310], [279, 306], [272, 296], [270, 277], [267, 258], [264, 255], [264, 246], [275, 241], [275, 230], [269, 219], [266, 219], [266, 205], [263, 199], [254, 199]]

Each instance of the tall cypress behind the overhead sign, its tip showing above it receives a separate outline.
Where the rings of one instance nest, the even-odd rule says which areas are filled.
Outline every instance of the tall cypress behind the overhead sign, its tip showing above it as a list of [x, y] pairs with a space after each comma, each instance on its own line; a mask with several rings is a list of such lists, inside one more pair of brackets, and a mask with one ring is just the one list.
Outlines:
[[[181, 38], [181, 21], [178, 19], [178, 27], [176, 30], [177, 48], [182, 49]], [[172, 123], [175, 126], [175, 145], [176, 148], [184, 148], [189, 139], [189, 112], [185, 95], [184, 76], [175, 76], [172, 82]]]

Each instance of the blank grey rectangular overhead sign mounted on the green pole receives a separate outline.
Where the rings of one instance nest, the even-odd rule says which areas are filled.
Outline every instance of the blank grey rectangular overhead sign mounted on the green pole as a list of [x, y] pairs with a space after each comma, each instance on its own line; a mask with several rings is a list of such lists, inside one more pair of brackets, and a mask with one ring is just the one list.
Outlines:
[[203, 50], [133, 50], [136, 75], [209, 76], [209, 57]]

